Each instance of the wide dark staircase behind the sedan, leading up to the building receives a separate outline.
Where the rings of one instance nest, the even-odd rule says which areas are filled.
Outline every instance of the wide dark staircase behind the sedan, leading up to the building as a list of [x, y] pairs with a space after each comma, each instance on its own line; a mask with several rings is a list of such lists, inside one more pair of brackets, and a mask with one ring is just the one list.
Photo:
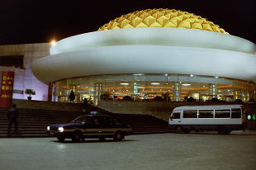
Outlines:
[[[115, 116], [121, 122], [132, 125], [134, 135], [168, 133], [168, 123], [159, 120], [153, 116], [114, 114], [105, 111], [97, 106], [88, 105], [83, 112], [81, 103], [64, 102], [40, 102], [27, 100], [13, 100], [17, 104], [19, 111], [18, 132], [14, 134], [14, 125], [12, 124], [12, 138], [28, 137], [48, 137], [46, 135], [47, 125], [69, 123], [78, 116], [87, 114], [91, 111], [98, 111], [105, 115]], [[0, 138], [7, 137], [7, 111], [9, 108], [0, 107]]]

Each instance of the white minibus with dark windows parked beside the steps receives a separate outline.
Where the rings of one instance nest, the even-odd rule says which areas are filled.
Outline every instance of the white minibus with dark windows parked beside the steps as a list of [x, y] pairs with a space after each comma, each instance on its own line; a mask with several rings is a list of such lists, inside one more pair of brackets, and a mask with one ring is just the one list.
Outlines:
[[228, 135], [231, 130], [247, 127], [245, 110], [241, 105], [178, 106], [168, 120], [170, 130], [188, 133], [191, 130], [216, 130]]

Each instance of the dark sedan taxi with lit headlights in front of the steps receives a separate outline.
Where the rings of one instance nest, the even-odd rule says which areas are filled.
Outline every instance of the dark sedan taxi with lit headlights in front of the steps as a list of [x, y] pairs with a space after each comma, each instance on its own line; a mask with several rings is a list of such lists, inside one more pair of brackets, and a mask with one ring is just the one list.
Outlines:
[[116, 141], [121, 141], [126, 135], [131, 134], [131, 126], [121, 123], [112, 116], [83, 115], [69, 124], [49, 125], [46, 132], [50, 136], [57, 137], [61, 142], [64, 139], [79, 142], [90, 138], [100, 140], [113, 138]]

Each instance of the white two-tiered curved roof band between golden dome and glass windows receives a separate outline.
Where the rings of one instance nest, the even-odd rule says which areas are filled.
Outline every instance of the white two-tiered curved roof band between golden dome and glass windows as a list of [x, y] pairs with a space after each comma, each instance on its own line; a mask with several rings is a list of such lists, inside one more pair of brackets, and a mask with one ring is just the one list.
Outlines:
[[211, 31], [129, 28], [76, 35], [57, 42], [31, 71], [45, 84], [119, 73], [179, 73], [256, 82], [256, 45]]

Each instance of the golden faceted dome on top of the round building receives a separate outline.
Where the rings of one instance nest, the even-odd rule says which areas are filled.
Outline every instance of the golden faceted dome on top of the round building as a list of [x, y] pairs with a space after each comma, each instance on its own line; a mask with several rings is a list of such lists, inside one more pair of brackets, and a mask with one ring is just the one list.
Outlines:
[[196, 16], [193, 13], [163, 8], [146, 9], [116, 17], [115, 20], [111, 20], [104, 26], [101, 26], [97, 31], [138, 27], [187, 28], [229, 34], [206, 18]]

